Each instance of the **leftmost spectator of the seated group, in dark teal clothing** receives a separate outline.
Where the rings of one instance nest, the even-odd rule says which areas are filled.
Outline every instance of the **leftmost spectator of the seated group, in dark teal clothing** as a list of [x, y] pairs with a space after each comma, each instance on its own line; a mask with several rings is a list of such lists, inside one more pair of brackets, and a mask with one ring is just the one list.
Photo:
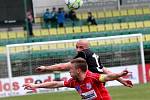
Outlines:
[[57, 27], [57, 11], [55, 7], [53, 7], [51, 12], [51, 27]]

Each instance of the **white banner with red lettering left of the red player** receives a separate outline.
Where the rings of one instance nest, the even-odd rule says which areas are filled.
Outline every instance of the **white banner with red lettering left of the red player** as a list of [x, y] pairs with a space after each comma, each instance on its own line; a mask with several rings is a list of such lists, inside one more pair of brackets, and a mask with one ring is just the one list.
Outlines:
[[11, 85], [10, 85], [8, 78], [0, 79], [0, 97], [11, 96], [10, 88], [12, 88], [11, 92], [13, 93], [13, 96], [25, 95], [28, 93], [45, 93], [45, 92], [57, 92], [57, 91], [70, 90], [68, 88], [57, 88], [57, 89], [36, 89], [35, 91], [31, 91], [31, 90], [24, 90], [24, 88], [22, 87], [24, 83], [36, 83], [37, 84], [37, 83], [42, 83], [42, 82], [47, 82], [47, 81], [52, 81], [52, 80], [67, 80], [69, 78], [70, 78], [69, 72], [24, 76], [24, 77], [13, 78]]

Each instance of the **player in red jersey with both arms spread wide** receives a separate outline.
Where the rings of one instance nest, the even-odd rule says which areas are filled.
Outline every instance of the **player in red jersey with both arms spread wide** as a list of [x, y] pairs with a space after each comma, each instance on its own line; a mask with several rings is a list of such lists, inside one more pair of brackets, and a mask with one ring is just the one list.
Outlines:
[[35, 88], [75, 88], [82, 100], [111, 100], [109, 92], [102, 82], [115, 80], [128, 74], [127, 70], [120, 73], [97, 74], [88, 71], [86, 60], [76, 58], [70, 62], [70, 78], [66, 81], [51, 81], [40, 84], [25, 83], [25, 89]]

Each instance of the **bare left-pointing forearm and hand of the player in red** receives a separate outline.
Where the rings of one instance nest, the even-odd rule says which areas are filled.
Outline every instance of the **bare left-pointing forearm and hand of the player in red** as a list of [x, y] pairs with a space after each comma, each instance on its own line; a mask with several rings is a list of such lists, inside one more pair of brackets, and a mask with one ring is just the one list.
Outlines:
[[45, 82], [40, 84], [33, 84], [33, 83], [25, 83], [23, 85], [24, 89], [32, 90], [35, 88], [57, 88], [57, 87], [64, 87], [64, 81], [51, 81]]

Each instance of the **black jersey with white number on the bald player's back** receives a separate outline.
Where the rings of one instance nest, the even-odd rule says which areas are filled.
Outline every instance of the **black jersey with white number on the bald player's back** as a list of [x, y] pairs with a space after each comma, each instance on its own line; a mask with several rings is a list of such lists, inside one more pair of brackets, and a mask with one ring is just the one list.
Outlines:
[[93, 53], [90, 49], [85, 49], [78, 54], [74, 58], [84, 58], [87, 62], [88, 69], [94, 73], [101, 73], [103, 65], [101, 64], [100, 57]]

